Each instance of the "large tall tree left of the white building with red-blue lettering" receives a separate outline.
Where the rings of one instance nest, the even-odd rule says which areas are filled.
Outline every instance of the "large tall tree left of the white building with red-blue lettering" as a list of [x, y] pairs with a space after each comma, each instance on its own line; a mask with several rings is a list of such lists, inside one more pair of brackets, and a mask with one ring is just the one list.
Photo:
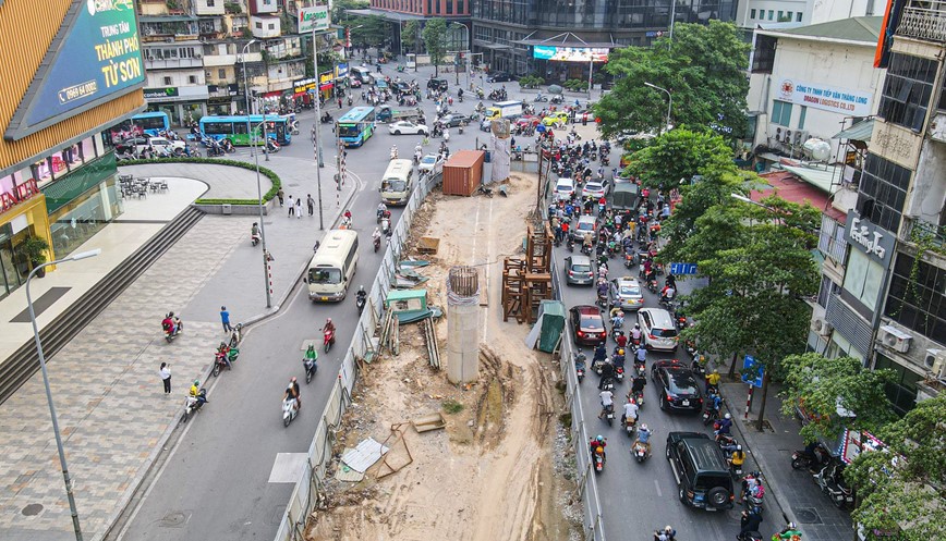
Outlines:
[[671, 93], [671, 124], [682, 121], [714, 126], [727, 138], [741, 136], [747, 126], [749, 49], [736, 25], [710, 21], [677, 24], [672, 42], [665, 36], [653, 47], [611, 52], [605, 70], [618, 81], [594, 108], [603, 134], [662, 130], [667, 95], [644, 86], [646, 82]]

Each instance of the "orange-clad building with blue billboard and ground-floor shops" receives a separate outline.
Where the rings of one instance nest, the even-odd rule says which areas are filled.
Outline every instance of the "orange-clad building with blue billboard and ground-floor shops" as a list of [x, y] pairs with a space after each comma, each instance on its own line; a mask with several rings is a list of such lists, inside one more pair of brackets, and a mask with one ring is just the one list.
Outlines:
[[144, 108], [138, 44], [121, 2], [0, 3], [0, 298], [32, 268], [27, 239], [61, 258], [121, 213], [101, 132]]

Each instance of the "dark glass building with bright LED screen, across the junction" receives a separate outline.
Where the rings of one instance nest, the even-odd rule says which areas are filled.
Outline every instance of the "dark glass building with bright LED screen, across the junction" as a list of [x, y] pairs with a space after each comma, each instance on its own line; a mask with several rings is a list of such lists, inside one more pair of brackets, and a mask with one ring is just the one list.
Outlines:
[[473, 0], [473, 50], [492, 70], [586, 81], [589, 54], [582, 50], [601, 56], [647, 46], [671, 20], [735, 21], [736, 11], [730, 0]]

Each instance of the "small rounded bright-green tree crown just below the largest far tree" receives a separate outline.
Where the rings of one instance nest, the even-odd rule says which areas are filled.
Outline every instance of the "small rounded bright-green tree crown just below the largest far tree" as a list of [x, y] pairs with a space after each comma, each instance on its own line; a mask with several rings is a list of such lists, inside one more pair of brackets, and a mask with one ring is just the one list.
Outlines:
[[714, 165], [735, 168], [732, 149], [723, 137], [680, 127], [634, 152], [627, 171], [644, 186], [670, 188], [681, 181], [689, 183], [693, 175]]

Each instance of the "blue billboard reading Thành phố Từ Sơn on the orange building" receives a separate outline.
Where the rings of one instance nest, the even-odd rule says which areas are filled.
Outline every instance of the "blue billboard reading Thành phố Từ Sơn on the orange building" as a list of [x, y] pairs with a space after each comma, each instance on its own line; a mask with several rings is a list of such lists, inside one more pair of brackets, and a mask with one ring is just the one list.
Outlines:
[[144, 86], [133, 0], [72, 3], [4, 137], [20, 139]]

